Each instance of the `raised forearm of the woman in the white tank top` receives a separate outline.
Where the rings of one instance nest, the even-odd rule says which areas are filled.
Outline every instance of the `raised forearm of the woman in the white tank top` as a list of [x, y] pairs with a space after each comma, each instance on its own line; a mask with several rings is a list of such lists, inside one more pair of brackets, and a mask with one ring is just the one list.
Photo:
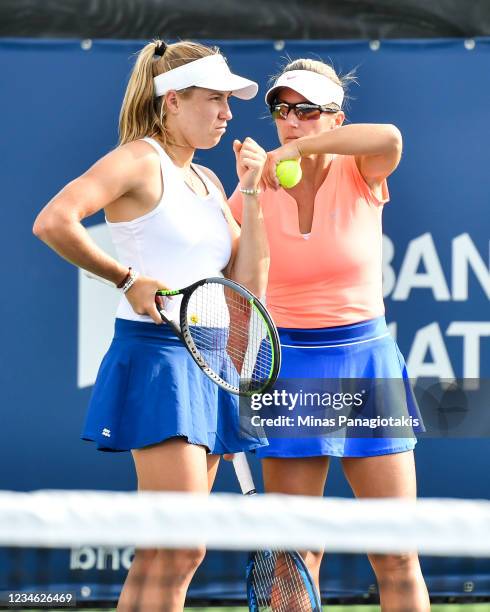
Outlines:
[[230, 278], [255, 295], [265, 295], [269, 275], [269, 243], [257, 196], [243, 194], [242, 227]]

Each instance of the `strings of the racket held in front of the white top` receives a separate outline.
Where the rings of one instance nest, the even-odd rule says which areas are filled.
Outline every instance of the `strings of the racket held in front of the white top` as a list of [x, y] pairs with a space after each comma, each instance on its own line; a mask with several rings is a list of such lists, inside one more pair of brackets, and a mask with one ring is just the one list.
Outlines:
[[253, 302], [220, 283], [206, 283], [190, 297], [186, 318], [196, 349], [225, 382], [252, 390], [264, 386], [274, 350]]

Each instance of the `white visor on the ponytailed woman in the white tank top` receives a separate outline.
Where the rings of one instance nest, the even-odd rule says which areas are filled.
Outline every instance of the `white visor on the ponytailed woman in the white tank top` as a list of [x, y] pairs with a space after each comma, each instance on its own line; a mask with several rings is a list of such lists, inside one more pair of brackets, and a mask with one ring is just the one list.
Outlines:
[[180, 91], [186, 87], [204, 87], [215, 91], [231, 91], [237, 98], [250, 100], [257, 95], [259, 86], [228, 68], [225, 58], [219, 53], [168, 70], [153, 79], [155, 96], [164, 96], [168, 91]]

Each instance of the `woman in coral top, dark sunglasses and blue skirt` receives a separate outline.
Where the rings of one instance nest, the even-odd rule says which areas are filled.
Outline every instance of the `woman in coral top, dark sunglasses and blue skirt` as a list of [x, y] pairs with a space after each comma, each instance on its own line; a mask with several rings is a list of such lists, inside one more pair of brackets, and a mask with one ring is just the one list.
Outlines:
[[[280, 378], [399, 379], [399, 405], [389, 408], [416, 418], [382, 294], [381, 216], [402, 138], [393, 125], [344, 126], [344, 88], [329, 65], [299, 59], [266, 94], [281, 143], [268, 154], [268, 189], [260, 197], [271, 255], [267, 305], [283, 355]], [[280, 188], [276, 177], [277, 164], [286, 159], [301, 159], [302, 179], [290, 189]], [[230, 206], [239, 221], [244, 204], [235, 191]], [[386, 415], [392, 400], [380, 395], [370, 410]], [[257, 454], [268, 492], [323, 495], [329, 458], [336, 456], [357, 497], [416, 496], [411, 429], [399, 437], [357, 437], [352, 429], [342, 436], [303, 429], [295, 438], [266, 432], [269, 445]], [[321, 555], [308, 553], [306, 561], [318, 582]], [[383, 610], [429, 609], [415, 554], [370, 555], [370, 561]]]

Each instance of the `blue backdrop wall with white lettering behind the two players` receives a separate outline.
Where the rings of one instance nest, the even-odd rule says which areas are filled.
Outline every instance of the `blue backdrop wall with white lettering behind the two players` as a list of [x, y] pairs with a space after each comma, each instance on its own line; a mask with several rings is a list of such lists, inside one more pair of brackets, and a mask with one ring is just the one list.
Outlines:
[[[236, 184], [233, 138], [277, 146], [263, 93], [286, 54], [331, 60], [341, 73], [356, 68], [348, 121], [394, 123], [404, 136], [384, 214], [387, 319], [413, 377], [487, 377], [490, 40], [381, 41], [379, 48], [367, 41], [218, 44], [232, 68], [261, 87], [250, 102], [233, 99], [228, 133], [196, 156], [228, 193]], [[135, 487], [127, 454], [102, 455], [79, 440], [91, 391], [91, 374], [81, 373], [80, 364], [90, 365], [100, 351], [82, 346], [83, 321], [93, 325], [94, 317], [82, 312], [85, 285], [77, 271], [31, 227], [63, 185], [116, 146], [117, 116], [140, 47], [0, 41], [3, 489]], [[99, 231], [102, 221], [98, 215], [87, 227]], [[488, 498], [489, 451], [485, 437], [420, 441], [420, 495]], [[230, 466], [220, 470], [217, 488], [237, 490]], [[327, 493], [350, 495], [338, 465]], [[203, 576], [218, 577], [220, 563], [216, 556]], [[458, 592], [462, 572], [451, 570]]]

